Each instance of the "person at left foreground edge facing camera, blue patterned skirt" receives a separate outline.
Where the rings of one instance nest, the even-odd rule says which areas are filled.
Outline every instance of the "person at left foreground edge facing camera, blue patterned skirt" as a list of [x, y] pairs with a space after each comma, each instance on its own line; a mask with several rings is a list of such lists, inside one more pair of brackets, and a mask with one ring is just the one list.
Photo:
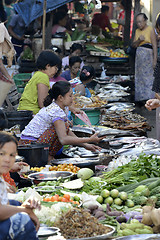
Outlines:
[[40, 224], [33, 209], [40, 209], [39, 202], [28, 199], [21, 206], [16, 201], [14, 206], [10, 205], [7, 185], [2, 177], [12, 168], [16, 155], [16, 139], [8, 133], [0, 132], [0, 239], [37, 240], [36, 230]]

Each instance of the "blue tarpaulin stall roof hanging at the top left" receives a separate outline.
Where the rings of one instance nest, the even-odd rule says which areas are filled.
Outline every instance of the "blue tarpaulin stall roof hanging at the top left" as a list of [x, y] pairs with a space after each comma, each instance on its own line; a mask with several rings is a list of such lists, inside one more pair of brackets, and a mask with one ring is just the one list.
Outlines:
[[[46, 0], [46, 12], [50, 12], [73, 0]], [[26, 26], [43, 15], [44, 0], [23, 0], [14, 5], [15, 10], [22, 16]]]

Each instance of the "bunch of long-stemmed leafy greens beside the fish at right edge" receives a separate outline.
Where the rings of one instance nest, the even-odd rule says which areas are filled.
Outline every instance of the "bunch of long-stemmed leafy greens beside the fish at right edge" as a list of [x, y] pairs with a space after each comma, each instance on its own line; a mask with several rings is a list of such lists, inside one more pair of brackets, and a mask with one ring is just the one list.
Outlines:
[[[144, 153], [140, 154], [137, 159], [132, 159], [126, 165], [103, 173], [103, 179], [107, 181], [108, 189], [159, 176], [160, 159], [155, 155], [146, 155]], [[126, 189], [120, 191], [127, 192]]]

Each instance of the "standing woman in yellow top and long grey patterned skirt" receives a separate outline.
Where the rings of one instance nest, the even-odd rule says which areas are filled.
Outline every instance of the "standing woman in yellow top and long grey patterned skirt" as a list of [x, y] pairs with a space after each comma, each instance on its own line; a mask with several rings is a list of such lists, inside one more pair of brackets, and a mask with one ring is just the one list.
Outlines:
[[152, 91], [153, 72], [157, 62], [157, 42], [155, 31], [147, 25], [147, 16], [139, 13], [136, 16], [137, 30], [133, 40], [136, 50], [135, 59], [135, 101], [144, 105], [154, 97]]

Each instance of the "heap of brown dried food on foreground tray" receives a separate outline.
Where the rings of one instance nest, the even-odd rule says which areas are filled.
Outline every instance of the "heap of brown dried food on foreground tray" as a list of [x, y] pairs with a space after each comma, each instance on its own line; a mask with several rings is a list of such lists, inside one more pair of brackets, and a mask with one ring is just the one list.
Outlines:
[[79, 208], [70, 209], [55, 225], [66, 239], [93, 237], [112, 231], [110, 227], [99, 223], [87, 210]]

